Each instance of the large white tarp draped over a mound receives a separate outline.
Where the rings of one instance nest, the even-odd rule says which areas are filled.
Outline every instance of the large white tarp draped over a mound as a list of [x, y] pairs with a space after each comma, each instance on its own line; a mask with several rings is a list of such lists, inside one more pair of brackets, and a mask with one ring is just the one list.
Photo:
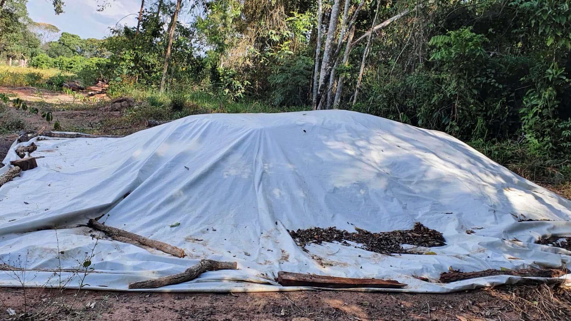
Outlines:
[[[289, 271], [408, 284], [393, 291], [451, 292], [525, 279], [439, 283], [441, 272], [571, 262], [571, 252], [534, 243], [571, 236], [569, 200], [447, 134], [371, 115], [195, 115], [124, 138], [33, 142], [33, 156], [45, 158], [0, 187], [1, 263], [17, 268], [0, 271], [0, 286], [22, 279], [26, 286], [126, 290], [208, 258], [238, 262], [238, 270], [155, 291], [299, 289], [274, 281]], [[5, 164], [19, 159], [16, 147]], [[187, 256], [98, 238], [85, 225], [99, 216]], [[441, 232], [446, 245], [385, 255], [353, 242], [302, 248], [288, 232], [387, 232], [416, 222]]]

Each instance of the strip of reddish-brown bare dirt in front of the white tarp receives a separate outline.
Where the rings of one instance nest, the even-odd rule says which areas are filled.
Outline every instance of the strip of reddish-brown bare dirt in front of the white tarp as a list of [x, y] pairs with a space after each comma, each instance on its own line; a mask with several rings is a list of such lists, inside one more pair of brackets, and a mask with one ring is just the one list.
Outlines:
[[22, 289], [11, 288], [0, 290], [0, 304], [5, 317], [9, 316], [6, 310], [12, 309], [17, 315], [29, 311], [32, 319], [46, 320], [568, 320], [565, 315], [553, 318], [542, 312], [539, 296], [530, 299], [536, 303], [518, 303], [516, 308], [510, 298], [519, 289], [440, 295], [347, 291], [156, 294], [27, 289], [24, 295]]

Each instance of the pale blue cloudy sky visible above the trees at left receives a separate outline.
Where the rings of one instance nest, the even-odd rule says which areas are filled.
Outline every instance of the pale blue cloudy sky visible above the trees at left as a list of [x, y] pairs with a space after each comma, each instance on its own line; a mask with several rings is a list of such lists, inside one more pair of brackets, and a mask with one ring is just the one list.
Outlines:
[[[96, 11], [97, 0], [66, 0], [65, 13], [55, 15], [51, 1], [29, 0], [28, 11], [35, 22], [46, 22], [62, 31], [78, 34], [81, 38], [103, 38], [109, 35], [108, 27], [115, 26], [119, 19], [140, 9], [140, 0], [115, 0], [102, 12]], [[135, 26], [137, 15], [130, 15], [121, 23]]]

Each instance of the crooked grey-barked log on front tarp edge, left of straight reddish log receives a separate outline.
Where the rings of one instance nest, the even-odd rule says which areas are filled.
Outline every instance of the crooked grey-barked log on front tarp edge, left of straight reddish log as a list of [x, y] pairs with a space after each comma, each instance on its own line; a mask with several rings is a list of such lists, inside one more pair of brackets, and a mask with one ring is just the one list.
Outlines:
[[187, 268], [184, 272], [174, 275], [163, 276], [154, 280], [146, 280], [140, 282], [129, 283], [129, 288], [158, 288], [188, 282], [198, 278], [200, 274], [206, 271], [218, 270], [236, 270], [238, 264], [236, 262], [222, 262], [215, 260], [202, 260], [200, 263]]

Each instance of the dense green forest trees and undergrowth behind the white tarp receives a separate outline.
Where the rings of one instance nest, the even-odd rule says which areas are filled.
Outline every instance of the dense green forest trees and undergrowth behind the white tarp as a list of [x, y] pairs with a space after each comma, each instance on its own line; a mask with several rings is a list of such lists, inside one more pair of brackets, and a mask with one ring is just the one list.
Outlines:
[[105, 39], [59, 33], [31, 21], [26, 0], [1, 1], [3, 63], [107, 79], [111, 95], [162, 93], [177, 117], [193, 113], [188, 91], [355, 110], [444, 131], [524, 176], [571, 177], [564, 0], [142, 0], [138, 25]]

